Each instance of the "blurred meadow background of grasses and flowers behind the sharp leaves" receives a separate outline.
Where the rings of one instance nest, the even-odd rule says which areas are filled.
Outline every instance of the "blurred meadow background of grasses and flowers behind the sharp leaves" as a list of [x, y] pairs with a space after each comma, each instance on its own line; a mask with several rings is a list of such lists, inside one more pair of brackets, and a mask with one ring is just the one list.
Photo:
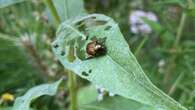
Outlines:
[[[195, 110], [195, 11], [188, 0], [84, 0], [88, 13], [102, 13], [120, 29], [147, 76], [175, 100]], [[194, 1], [195, 2], [195, 1]], [[56, 26], [41, 0], [0, 9], [0, 107], [35, 85], [67, 73], [51, 51]], [[77, 78], [78, 90], [89, 84]], [[63, 88], [65, 86], [65, 88]], [[33, 108], [69, 105], [67, 85]]]

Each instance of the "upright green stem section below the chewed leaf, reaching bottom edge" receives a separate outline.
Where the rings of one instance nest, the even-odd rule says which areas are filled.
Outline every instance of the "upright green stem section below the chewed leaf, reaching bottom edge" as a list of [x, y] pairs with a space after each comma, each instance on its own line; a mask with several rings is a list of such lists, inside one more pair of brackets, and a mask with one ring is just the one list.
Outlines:
[[76, 76], [71, 71], [68, 72], [68, 87], [70, 94], [70, 110], [77, 110], [77, 87]]

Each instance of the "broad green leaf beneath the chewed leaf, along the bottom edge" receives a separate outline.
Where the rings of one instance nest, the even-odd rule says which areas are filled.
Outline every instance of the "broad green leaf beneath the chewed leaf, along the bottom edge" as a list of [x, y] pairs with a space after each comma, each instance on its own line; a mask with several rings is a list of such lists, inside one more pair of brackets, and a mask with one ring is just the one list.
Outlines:
[[121, 96], [105, 96], [102, 101], [97, 101], [97, 97], [97, 89], [92, 85], [80, 89], [78, 92], [79, 110], [155, 110]]

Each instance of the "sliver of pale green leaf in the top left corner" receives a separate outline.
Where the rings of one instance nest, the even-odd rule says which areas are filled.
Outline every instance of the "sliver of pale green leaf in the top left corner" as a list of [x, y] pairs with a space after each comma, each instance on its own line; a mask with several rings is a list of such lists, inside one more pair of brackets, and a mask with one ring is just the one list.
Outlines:
[[5, 8], [16, 3], [24, 2], [26, 0], [0, 0], [0, 8]]

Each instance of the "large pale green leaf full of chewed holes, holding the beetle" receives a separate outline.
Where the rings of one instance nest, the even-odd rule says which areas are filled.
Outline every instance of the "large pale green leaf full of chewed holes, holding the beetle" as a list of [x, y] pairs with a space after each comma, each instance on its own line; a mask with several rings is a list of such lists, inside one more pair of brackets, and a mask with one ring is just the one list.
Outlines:
[[[89, 58], [86, 46], [95, 37], [105, 40], [107, 53]], [[186, 110], [152, 84], [117, 23], [107, 16], [92, 14], [64, 22], [53, 42], [53, 51], [64, 67], [114, 94], [160, 110]]]

